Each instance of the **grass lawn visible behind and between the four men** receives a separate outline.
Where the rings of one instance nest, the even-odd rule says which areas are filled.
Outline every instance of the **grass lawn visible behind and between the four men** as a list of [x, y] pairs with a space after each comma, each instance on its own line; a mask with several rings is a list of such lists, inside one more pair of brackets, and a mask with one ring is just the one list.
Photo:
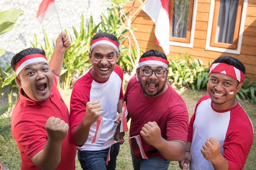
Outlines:
[[[189, 110], [189, 118], [191, 118], [195, 104], [197, 103], [198, 99], [206, 94], [206, 91], [195, 91], [190, 92], [187, 89], [176, 89], [176, 91], [182, 96], [184, 99], [186, 106]], [[67, 106], [69, 107], [70, 103], [70, 93], [62, 93], [63, 99], [65, 100]], [[252, 120], [254, 125], [254, 131], [256, 129], [256, 105], [252, 105], [248, 102], [240, 102], [243, 106], [247, 114]], [[128, 132], [126, 132], [126, 137], [128, 136]], [[245, 163], [245, 167], [243, 170], [253, 170], [256, 167], [256, 137], [254, 136], [254, 143], [247, 157], [247, 161]], [[20, 153], [16, 146], [16, 142], [14, 140], [5, 141], [0, 136], [0, 163], [4, 165], [5, 168], [9, 170], [19, 170], [20, 169]], [[117, 170], [133, 170], [132, 168], [132, 160], [130, 157], [130, 147], [128, 141], [124, 142], [123, 145], [120, 146], [120, 152], [117, 157]], [[80, 167], [79, 161], [76, 158], [76, 170], [82, 170]], [[169, 170], [180, 170], [178, 162], [171, 162], [169, 166]]]

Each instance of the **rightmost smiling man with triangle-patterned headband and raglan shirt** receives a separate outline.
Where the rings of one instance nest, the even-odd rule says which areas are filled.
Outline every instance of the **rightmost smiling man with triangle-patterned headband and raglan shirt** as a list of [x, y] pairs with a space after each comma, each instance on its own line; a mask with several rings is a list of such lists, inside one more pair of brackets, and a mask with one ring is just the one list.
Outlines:
[[242, 170], [254, 138], [252, 122], [236, 100], [245, 66], [230, 56], [210, 66], [208, 95], [199, 99], [189, 123], [187, 151], [180, 167], [190, 170]]

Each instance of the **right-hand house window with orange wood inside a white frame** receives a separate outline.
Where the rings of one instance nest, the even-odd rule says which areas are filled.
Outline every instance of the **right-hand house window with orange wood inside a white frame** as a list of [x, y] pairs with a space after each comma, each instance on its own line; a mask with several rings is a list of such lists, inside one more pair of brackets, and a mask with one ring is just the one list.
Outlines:
[[211, 0], [206, 48], [240, 53], [247, 0]]

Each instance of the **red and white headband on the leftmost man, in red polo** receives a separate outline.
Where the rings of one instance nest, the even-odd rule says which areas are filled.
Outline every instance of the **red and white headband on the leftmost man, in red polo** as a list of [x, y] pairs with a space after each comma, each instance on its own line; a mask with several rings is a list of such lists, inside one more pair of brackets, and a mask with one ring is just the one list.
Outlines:
[[19, 75], [20, 71], [27, 65], [34, 62], [47, 62], [47, 58], [43, 54], [29, 54], [18, 61], [15, 66], [16, 74]]

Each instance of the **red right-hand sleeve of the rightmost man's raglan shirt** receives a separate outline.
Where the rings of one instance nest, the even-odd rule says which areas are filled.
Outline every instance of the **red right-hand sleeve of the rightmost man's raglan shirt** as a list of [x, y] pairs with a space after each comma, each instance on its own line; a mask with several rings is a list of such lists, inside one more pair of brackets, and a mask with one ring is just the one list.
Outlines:
[[242, 170], [254, 139], [252, 122], [242, 107], [231, 111], [229, 128], [223, 144], [223, 156], [229, 170]]

